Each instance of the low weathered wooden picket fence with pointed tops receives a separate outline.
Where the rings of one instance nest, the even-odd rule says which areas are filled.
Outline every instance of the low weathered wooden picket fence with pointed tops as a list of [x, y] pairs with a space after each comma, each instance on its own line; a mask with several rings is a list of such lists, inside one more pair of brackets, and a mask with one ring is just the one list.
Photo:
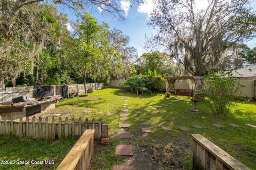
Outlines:
[[55, 121], [55, 118], [52, 117], [52, 120], [48, 120], [48, 117], [45, 118], [45, 121], [42, 121], [42, 117], [39, 117], [38, 121], [33, 117], [32, 121], [29, 120], [28, 116], [26, 120], [10, 120], [7, 119], [7, 116], [4, 117], [4, 120], [0, 117], [0, 134], [9, 134], [14, 132], [16, 135], [24, 135], [32, 138], [39, 139], [55, 139], [61, 137], [67, 137], [68, 135], [81, 136], [86, 129], [94, 129], [94, 138], [108, 138], [108, 125], [102, 123], [101, 119], [99, 122], [95, 122], [95, 119], [92, 119], [92, 122], [88, 122], [86, 118], [85, 122], [82, 122], [82, 118], [79, 118], [78, 121], [75, 121], [73, 118], [72, 121], [68, 121], [66, 118], [62, 121], [61, 117], [58, 121]]

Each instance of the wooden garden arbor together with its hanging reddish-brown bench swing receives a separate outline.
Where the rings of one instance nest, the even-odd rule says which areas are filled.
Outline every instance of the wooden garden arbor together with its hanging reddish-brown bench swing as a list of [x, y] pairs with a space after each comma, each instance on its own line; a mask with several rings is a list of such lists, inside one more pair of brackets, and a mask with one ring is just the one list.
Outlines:
[[[164, 77], [167, 79], [166, 84], [166, 94], [164, 99], [166, 99], [166, 96], [168, 92], [172, 92], [175, 95], [179, 96], [190, 96], [194, 99], [195, 94], [202, 94], [201, 90], [201, 82], [203, 77], [202, 76], [175, 76], [175, 77]], [[174, 83], [176, 80], [194, 80], [195, 87], [194, 89], [176, 89], [174, 86]]]

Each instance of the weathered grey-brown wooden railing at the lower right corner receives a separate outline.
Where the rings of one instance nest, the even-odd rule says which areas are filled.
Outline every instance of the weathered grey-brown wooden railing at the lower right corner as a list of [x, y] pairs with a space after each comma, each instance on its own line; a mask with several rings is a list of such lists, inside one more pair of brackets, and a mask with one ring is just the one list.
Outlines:
[[198, 170], [250, 170], [200, 134], [193, 138], [193, 165]]

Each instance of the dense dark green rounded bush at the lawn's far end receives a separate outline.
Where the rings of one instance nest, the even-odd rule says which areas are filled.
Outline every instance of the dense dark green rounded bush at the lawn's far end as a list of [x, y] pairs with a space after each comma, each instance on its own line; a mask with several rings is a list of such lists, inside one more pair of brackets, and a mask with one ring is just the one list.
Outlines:
[[128, 80], [120, 83], [119, 86], [129, 91], [140, 91], [140, 88], [145, 87], [148, 89], [148, 93], [152, 93], [160, 89], [162, 82], [161, 76], [144, 76], [139, 74], [131, 76]]

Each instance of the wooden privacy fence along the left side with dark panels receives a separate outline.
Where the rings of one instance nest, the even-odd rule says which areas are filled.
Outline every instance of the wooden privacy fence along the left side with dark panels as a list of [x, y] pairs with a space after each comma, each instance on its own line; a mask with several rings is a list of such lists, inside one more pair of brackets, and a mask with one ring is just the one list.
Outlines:
[[[93, 92], [106, 88], [104, 83], [86, 84], [87, 92]], [[0, 90], [0, 103], [12, 101], [13, 98], [27, 96], [28, 98], [42, 98], [45, 96], [61, 95], [64, 99], [68, 98], [69, 92], [79, 91], [84, 93], [84, 84], [71, 84], [63, 86], [28, 86], [28, 87], [7, 87]]]

